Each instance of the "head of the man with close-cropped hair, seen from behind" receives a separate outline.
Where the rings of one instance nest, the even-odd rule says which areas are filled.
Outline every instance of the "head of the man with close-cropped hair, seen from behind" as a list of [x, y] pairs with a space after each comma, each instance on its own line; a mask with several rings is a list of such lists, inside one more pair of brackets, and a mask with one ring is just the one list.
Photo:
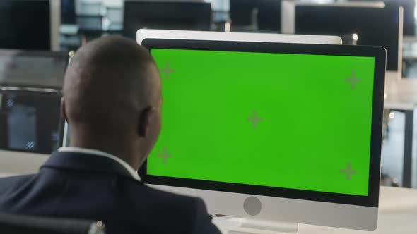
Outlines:
[[78, 49], [61, 109], [73, 147], [98, 149], [139, 168], [160, 130], [160, 77], [146, 49], [103, 37]]

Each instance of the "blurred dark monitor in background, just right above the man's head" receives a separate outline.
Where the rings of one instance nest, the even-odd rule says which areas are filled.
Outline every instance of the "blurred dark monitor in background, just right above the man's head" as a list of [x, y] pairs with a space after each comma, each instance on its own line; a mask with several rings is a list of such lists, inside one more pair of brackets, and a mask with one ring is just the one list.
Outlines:
[[204, 2], [125, 1], [124, 36], [136, 39], [141, 28], [208, 31], [211, 6]]

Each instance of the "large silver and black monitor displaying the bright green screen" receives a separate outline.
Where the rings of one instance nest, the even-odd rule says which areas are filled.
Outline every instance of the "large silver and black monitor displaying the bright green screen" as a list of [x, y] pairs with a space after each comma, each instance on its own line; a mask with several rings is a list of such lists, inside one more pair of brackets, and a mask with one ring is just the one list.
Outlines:
[[164, 100], [144, 183], [202, 197], [211, 214], [375, 230], [382, 47], [141, 44]]

